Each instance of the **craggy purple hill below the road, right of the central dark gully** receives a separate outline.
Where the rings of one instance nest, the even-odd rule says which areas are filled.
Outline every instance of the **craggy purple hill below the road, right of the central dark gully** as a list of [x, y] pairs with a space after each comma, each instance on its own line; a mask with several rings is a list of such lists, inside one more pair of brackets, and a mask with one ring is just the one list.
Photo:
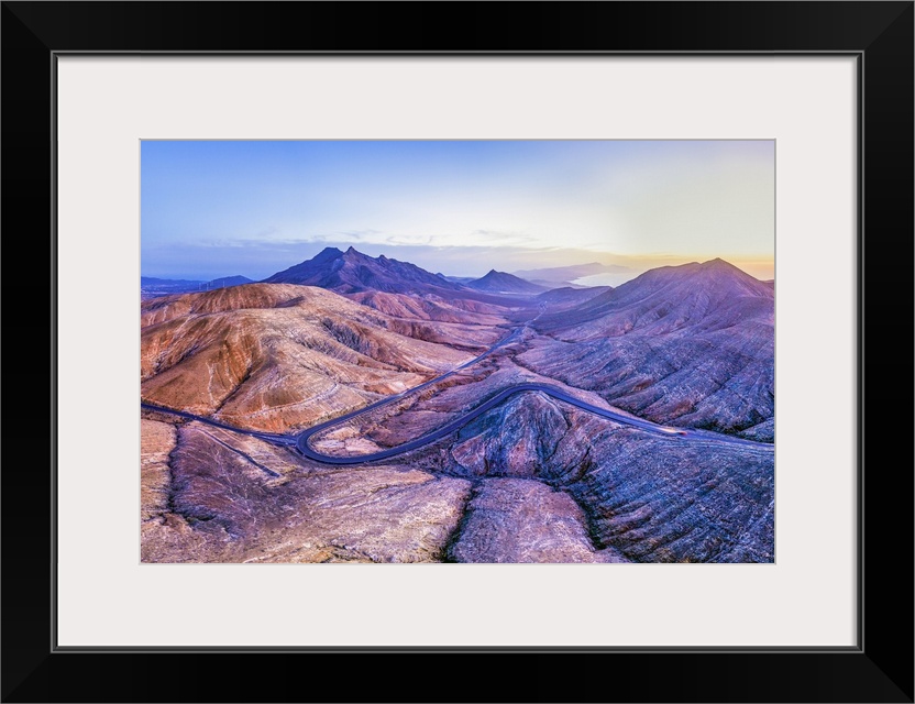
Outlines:
[[671, 442], [531, 393], [465, 426], [449, 454], [448, 476], [476, 482], [454, 561], [773, 559], [770, 451]]

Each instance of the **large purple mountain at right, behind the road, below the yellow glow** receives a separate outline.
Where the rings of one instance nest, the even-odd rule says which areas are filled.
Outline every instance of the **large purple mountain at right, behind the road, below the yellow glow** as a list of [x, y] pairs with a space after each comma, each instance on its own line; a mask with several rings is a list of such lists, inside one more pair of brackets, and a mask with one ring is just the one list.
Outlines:
[[665, 266], [534, 323], [519, 361], [655, 422], [772, 441], [774, 292], [723, 260]]

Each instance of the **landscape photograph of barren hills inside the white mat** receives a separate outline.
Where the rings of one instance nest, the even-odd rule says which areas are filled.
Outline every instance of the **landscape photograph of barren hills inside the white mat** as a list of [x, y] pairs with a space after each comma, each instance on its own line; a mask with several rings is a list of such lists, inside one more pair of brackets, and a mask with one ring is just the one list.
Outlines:
[[775, 562], [774, 140], [140, 150], [143, 563]]

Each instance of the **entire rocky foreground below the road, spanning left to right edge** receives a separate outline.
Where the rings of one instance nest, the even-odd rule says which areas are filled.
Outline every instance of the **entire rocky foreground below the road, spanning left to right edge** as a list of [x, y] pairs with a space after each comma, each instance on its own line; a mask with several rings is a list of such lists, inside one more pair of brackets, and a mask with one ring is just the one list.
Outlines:
[[[532, 406], [551, 406], [533, 429], [520, 422]], [[562, 406], [521, 396], [398, 462], [354, 469], [146, 420], [144, 451], [170, 457], [170, 473], [142, 468], [144, 560], [774, 559], [771, 451], [659, 439]]]

